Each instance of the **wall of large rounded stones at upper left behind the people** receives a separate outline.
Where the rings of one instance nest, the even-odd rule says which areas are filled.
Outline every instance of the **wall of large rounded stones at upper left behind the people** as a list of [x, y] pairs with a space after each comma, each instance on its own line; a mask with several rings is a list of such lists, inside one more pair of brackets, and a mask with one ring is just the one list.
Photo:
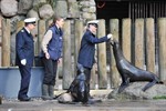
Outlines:
[[[94, 0], [1, 0], [1, 19], [11, 20], [11, 48], [14, 48], [17, 22], [25, 18], [35, 17], [38, 20], [49, 20], [53, 14], [62, 16], [70, 20], [80, 19], [84, 23], [87, 20], [96, 19]], [[37, 32], [34, 31], [33, 34]], [[0, 22], [1, 43], [1, 22]], [[12, 50], [12, 49], [11, 49]], [[1, 58], [1, 47], [0, 47]], [[0, 60], [1, 65], [1, 60]]]

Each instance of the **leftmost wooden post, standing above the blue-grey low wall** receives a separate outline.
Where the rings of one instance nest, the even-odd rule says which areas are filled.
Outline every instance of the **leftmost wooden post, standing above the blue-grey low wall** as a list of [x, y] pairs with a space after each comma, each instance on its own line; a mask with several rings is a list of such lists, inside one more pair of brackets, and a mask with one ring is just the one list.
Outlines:
[[10, 67], [10, 20], [2, 19], [2, 67]]

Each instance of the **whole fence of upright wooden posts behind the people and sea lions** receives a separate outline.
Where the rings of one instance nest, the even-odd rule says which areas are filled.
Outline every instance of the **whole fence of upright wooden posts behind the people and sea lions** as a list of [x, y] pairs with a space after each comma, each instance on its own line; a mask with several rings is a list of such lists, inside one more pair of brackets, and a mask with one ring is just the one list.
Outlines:
[[[38, 34], [35, 40], [35, 56], [40, 52], [40, 42], [44, 36], [50, 21], [39, 20]], [[18, 22], [20, 30], [23, 22]], [[120, 41], [125, 58], [141, 69], [156, 73], [160, 80], [166, 80], [166, 18], [158, 18], [157, 22], [153, 18], [136, 19], [111, 19], [105, 23], [100, 20], [97, 37], [104, 37], [106, 30]], [[68, 89], [75, 75], [75, 65], [84, 24], [81, 20], [66, 20], [63, 36], [63, 63], [62, 73], [63, 89]], [[2, 67], [10, 65], [10, 20], [2, 20]], [[108, 43], [97, 46], [97, 71], [92, 70], [91, 89], [116, 88], [121, 82], [117, 72], [112, 48]], [[110, 69], [110, 70], [108, 70]]]

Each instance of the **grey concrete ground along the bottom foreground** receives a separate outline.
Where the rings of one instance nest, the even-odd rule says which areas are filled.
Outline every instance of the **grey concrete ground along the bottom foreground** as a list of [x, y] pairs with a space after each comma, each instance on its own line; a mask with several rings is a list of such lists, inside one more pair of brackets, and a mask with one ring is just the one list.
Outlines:
[[[61, 93], [63, 91], [59, 91]], [[20, 102], [17, 99], [3, 100], [0, 111], [166, 111], [166, 100], [139, 100], [117, 101], [106, 99], [110, 91], [91, 91], [91, 94], [102, 102], [94, 104], [62, 104], [58, 100], [43, 101], [40, 98], [32, 98], [32, 101]]]

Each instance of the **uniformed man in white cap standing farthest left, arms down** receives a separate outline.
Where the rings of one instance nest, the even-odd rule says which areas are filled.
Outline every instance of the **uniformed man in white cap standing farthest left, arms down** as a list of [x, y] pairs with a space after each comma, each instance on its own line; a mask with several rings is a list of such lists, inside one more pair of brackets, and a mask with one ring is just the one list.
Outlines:
[[18, 93], [18, 100], [30, 101], [28, 90], [31, 78], [31, 68], [34, 58], [33, 37], [30, 33], [35, 28], [35, 18], [28, 18], [24, 20], [24, 28], [22, 28], [15, 37], [15, 64], [19, 65], [21, 73], [21, 84]]

